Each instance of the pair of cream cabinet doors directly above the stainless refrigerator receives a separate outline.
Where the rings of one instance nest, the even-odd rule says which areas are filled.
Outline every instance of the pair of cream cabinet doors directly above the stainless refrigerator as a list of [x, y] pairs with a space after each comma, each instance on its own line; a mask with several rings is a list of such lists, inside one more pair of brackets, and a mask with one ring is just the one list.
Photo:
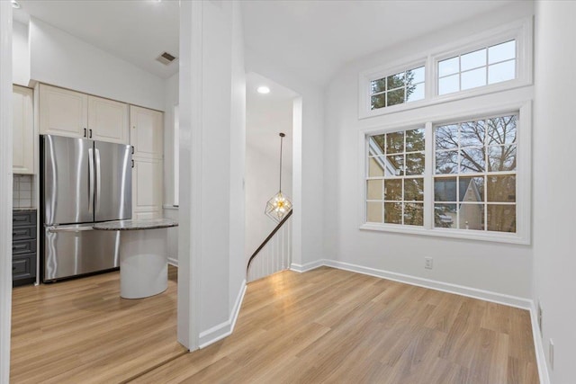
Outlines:
[[129, 144], [128, 104], [40, 85], [40, 134]]

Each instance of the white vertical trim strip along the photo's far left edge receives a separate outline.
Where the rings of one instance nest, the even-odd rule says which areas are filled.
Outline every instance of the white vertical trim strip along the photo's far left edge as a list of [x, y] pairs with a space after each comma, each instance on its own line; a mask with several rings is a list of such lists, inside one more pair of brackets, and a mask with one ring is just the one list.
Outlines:
[[12, 182], [12, 4], [0, 1], [0, 383], [10, 379]]

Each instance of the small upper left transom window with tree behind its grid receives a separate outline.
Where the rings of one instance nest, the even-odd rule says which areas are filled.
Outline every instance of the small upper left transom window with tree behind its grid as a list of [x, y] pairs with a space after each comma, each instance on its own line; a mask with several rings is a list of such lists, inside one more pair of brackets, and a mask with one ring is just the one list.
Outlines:
[[370, 82], [372, 110], [424, 99], [424, 67], [416, 67]]

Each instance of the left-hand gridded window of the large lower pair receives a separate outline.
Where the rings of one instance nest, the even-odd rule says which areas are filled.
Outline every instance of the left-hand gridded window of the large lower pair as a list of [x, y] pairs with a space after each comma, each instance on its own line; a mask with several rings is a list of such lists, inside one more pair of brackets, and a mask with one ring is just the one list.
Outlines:
[[368, 137], [366, 221], [424, 225], [424, 128]]

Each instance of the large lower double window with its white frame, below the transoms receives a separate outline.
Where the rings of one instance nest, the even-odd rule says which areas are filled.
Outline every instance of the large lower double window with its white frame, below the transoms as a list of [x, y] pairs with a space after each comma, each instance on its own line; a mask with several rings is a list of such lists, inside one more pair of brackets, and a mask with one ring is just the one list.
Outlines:
[[509, 105], [362, 131], [360, 228], [529, 244], [531, 104]]

